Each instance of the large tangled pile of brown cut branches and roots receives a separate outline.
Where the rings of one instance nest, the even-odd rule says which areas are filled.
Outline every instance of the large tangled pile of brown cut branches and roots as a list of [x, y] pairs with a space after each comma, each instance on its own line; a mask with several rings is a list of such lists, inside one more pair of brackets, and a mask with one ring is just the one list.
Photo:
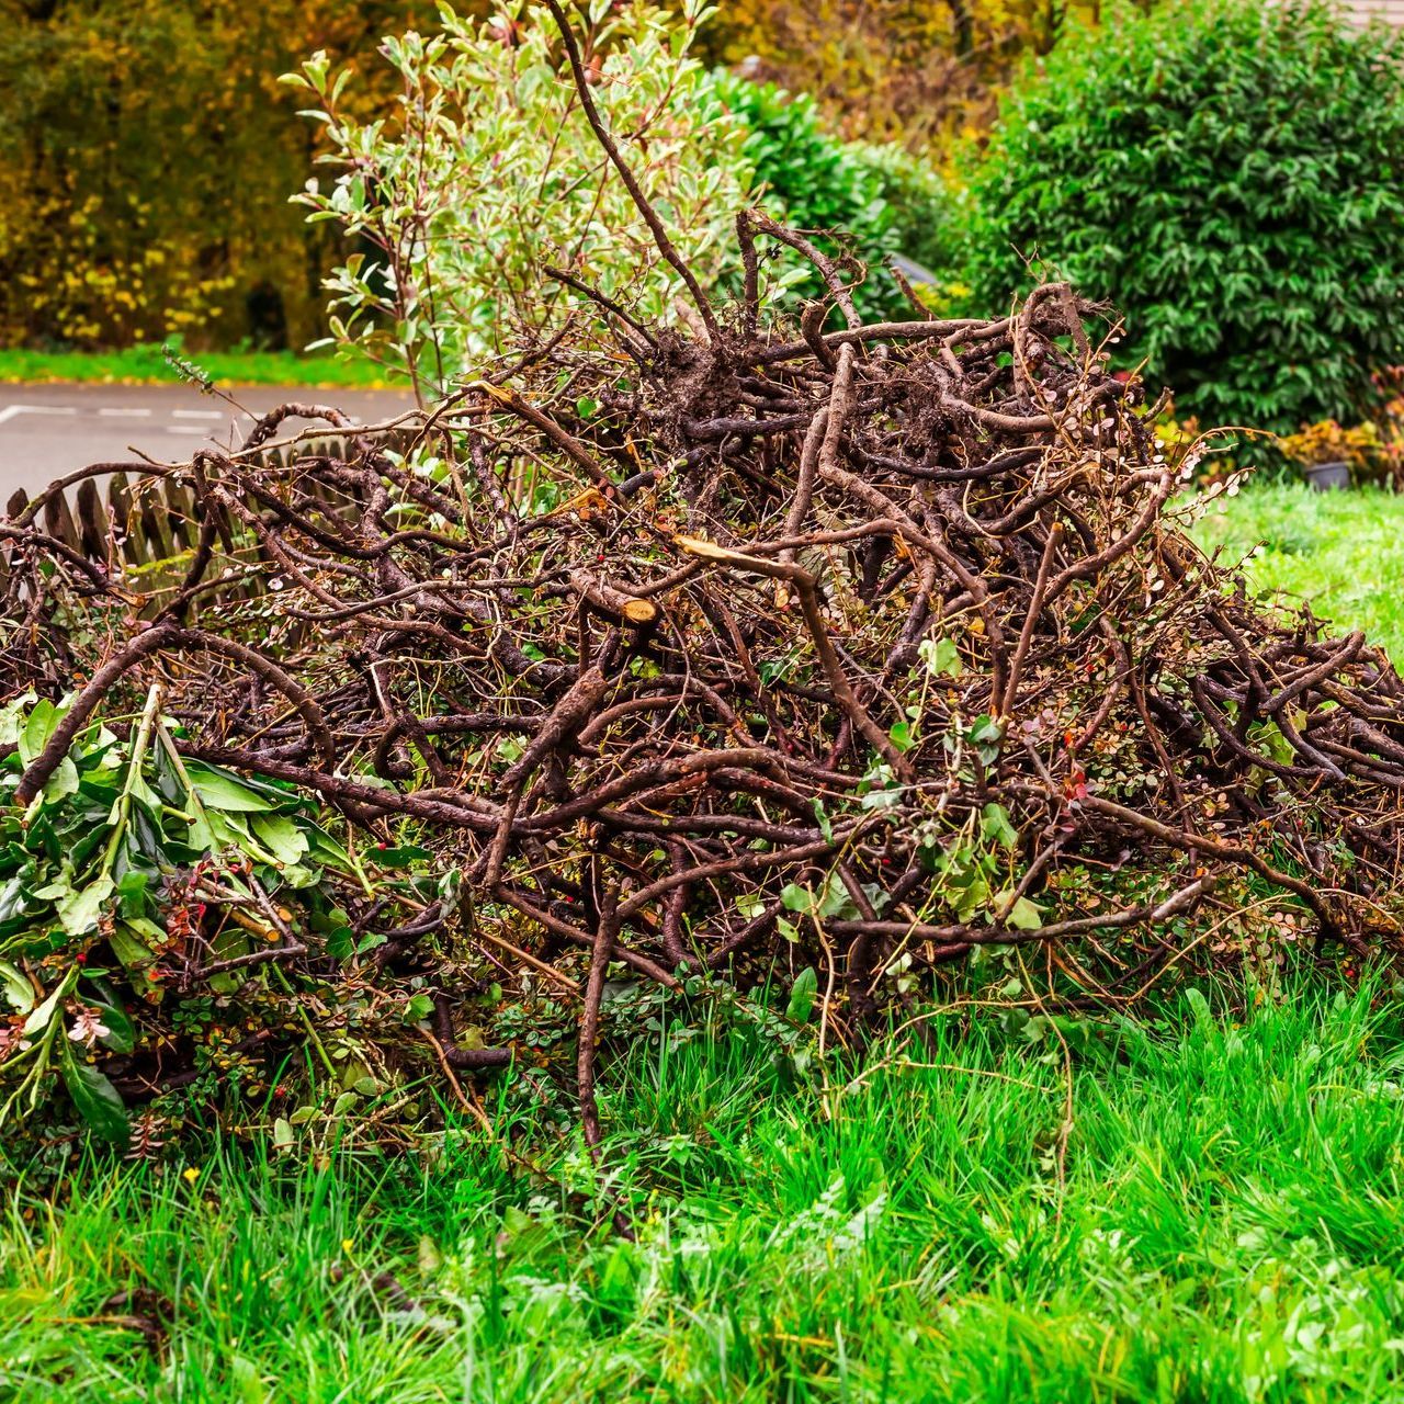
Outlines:
[[[285, 406], [147, 466], [201, 526], [163, 592], [32, 508], [0, 528], [10, 684], [81, 680], [15, 803], [160, 684], [187, 760], [461, 875], [378, 965], [452, 928], [577, 998], [587, 1127], [611, 966], [809, 966], [833, 1025], [991, 952], [1024, 998], [1116, 1004], [1264, 939], [1397, 951], [1400, 678], [1182, 534], [1099, 309], [863, 324], [854, 270], [747, 212], [719, 310], [651, 218], [692, 334], [562, 272], [614, 338], [494, 368], [396, 452], [312, 430], [270, 468], [289, 418], [341, 423]], [[764, 303], [776, 241], [824, 302]]]

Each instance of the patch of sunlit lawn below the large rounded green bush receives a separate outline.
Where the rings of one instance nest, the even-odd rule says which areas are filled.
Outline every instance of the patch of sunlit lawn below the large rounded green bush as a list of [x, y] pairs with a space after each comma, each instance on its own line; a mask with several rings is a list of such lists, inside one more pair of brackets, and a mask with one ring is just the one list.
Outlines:
[[1250, 487], [1221, 500], [1196, 534], [1248, 563], [1258, 590], [1310, 604], [1339, 628], [1360, 628], [1404, 664], [1404, 496], [1314, 493], [1299, 484]]

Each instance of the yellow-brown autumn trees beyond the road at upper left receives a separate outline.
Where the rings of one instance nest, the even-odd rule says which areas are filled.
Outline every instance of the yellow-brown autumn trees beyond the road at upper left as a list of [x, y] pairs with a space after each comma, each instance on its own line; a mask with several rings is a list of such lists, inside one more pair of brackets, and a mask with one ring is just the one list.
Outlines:
[[288, 205], [319, 133], [277, 76], [319, 48], [364, 60], [420, 13], [0, 0], [0, 338], [307, 340], [331, 240]]

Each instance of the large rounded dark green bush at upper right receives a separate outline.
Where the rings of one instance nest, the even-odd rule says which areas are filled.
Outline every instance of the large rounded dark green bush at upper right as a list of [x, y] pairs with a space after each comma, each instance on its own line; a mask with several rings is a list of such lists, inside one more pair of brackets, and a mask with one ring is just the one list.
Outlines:
[[1123, 309], [1202, 417], [1344, 416], [1404, 343], [1404, 35], [1320, 0], [1177, 3], [1084, 31], [972, 176], [986, 307], [1046, 260]]

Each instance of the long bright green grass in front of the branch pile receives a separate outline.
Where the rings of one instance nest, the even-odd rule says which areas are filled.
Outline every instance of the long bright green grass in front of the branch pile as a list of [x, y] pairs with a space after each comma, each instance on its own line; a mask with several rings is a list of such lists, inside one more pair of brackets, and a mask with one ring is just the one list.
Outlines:
[[[1404, 1398], [1389, 1004], [1127, 1031], [1075, 1066], [1063, 1189], [1061, 1060], [990, 1024], [827, 1099], [744, 1042], [639, 1054], [607, 1147], [650, 1189], [633, 1244], [477, 1132], [428, 1170], [87, 1163], [8, 1205], [0, 1397]], [[588, 1188], [578, 1147], [555, 1177]], [[156, 1351], [114, 1320], [161, 1310]]]

